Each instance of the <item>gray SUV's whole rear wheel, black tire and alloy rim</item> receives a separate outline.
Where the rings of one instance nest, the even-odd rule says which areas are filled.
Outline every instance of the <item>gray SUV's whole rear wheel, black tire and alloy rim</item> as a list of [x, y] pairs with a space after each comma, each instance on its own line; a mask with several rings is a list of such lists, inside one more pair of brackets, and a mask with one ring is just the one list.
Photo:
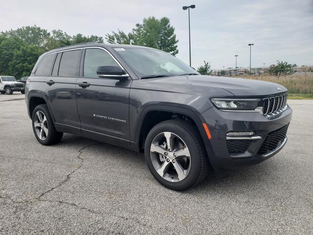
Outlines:
[[36, 106], [32, 114], [32, 126], [35, 137], [43, 145], [61, 141], [63, 132], [57, 132], [46, 104]]

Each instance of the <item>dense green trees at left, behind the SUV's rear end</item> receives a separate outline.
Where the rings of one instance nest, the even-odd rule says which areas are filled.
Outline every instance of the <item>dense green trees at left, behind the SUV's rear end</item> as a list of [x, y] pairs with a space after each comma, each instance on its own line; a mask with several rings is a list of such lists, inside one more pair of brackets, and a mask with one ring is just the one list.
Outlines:
[[72, 44], [103, 43], [99, 36], [76, 34], [69, 36], [62, 30], [48, 32], [36, 25], [0, 33], [0, 74], [17, 79], [29, 76], [38, 57], [45, 51]]

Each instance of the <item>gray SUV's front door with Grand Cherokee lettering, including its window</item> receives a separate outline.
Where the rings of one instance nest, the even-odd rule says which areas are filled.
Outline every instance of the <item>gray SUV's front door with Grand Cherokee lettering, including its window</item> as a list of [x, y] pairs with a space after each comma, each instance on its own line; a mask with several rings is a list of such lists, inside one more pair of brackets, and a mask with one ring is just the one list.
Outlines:
[[[77, 80], [76, 99], [82, 133], [109, 141], [129, 143], [129, 92], [131, 80], [97, 76], [100, 65], [118, 65], [103, 48], [86, 48], [81, 76]], [[89, 84], [81, 87], [80, 83]]]

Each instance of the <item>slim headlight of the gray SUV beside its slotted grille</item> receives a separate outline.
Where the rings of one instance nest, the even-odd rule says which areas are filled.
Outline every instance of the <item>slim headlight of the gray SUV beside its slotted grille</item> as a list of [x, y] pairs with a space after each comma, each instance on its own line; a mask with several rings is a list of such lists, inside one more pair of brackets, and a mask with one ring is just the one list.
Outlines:
[[225, 110], [255, 110], [259, 105], [260, 99], [228, 99], [212, 98], [212, 103], [218, 109]]

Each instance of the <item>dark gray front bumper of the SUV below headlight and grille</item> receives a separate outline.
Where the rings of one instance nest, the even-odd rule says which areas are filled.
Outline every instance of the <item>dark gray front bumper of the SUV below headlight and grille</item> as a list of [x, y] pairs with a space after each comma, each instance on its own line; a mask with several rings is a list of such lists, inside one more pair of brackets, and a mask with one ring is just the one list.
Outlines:
[[[291, 115], [292, 110], [289, 106], [284, 112], [270, 118], [266, 118], [260, 113], [225, 112], [215, 107], [203, 112], [201, 116], [211, 133], [211, 148], [206, 149], [210, 163], [214, 168], [235, 169], [258, 164], [274, 156], [286, 144], [287, 137], [266, 153], [261, 151], [261, 147], [264, 146], [262, 144], [266, 144], [265, 140], [268, 134], [274, 133], [278, 129], [284, 129], [290, 123]], [[237, 145], [232, 145], [235, 150], [231, 151], [229, 141], [226, 140], [226, 134], [228, 132], [247, 131], [254, 131], [256, 136], [261, 138], [252, 139], [248, 142], [238, 141]], [[246, 144], [246, 146], [241, 143]], [[237, 151], [236, 146], [243, 150]]]

